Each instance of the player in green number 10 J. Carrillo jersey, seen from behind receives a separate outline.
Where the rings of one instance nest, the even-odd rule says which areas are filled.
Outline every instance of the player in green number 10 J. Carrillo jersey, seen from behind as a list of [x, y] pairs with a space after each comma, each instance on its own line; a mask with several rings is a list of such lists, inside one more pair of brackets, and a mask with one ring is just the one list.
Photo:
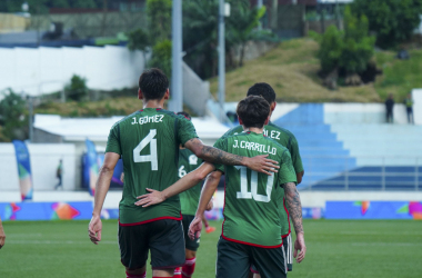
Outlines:
[[[303, 238], [302, 208], [295, 188], [297, 175], [289, 150], [263, 135], [269, 121], [270, 106], [261, 97], [241, 100], [237, 109], [244, 132], [220, 138], [214, 147], [243, 156], [269, 153], [280, 162], [273, 176], [263, 176], [244, 167], [205, 162], [162, 192], [157, 190], [140, 196], [137, 205], [150, 207], [187, 190], [217, 169], [219, 178], [225, 172], [224, 221], [218, 244], [217, 277], [245, 278], [252, 262], [264, 278], [287, 277], [284, 247], [281, 238], [279, 211], [283, 207], [281, 195], [285, 192], [292, 221], [298, 235], [294, 248], [298, 262], [302, 261], [307, 247]], [[205, 182], [190, 236], [198, 237], [202, 229], [203, 211], [217, 186]], [[284, 192], [282, 190], [284, 188]]]

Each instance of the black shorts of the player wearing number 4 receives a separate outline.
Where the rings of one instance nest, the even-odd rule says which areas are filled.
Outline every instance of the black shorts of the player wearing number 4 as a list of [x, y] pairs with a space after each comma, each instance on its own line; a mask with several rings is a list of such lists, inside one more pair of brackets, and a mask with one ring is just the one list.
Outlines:
[[148, 250], [151, 250], [152, 268], [175, 268], [184, 264], [183, 228], [178, 220], [119, 226], [119, 247], [121, 261], [129, 269], [143, 267]]

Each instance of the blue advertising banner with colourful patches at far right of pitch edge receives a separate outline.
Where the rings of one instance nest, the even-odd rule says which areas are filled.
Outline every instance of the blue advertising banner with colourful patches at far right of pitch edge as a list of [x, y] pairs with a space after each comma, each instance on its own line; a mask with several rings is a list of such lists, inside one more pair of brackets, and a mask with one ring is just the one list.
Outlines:
[[326, 201], [326, 219], [419, 219], [421, 201]]

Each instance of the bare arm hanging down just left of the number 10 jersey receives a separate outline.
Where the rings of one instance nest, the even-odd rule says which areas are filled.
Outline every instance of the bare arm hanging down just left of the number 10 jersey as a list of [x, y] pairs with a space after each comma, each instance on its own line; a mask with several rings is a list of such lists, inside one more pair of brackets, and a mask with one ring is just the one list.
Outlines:
[[207, 210], [212, 196], [214, 195], [217, 187], [219, 186], [222, 172], [217, 170], [208, 175], [207, 180], [202, 187], [201, 197], [199, 199], [197, 214], [191, 225], [189, 226], [189, 237], [194, 239], [199, 238], [202, 230], [202, 217]]

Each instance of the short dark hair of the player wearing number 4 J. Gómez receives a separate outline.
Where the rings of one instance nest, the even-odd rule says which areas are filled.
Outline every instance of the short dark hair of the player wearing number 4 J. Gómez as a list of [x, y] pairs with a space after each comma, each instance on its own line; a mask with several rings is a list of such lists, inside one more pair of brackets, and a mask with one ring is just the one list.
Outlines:
[[139, 89], [145, 99], [162, 99], [169, 89], [169, 79], [160, 69], [144, 70], [139, 78]]

